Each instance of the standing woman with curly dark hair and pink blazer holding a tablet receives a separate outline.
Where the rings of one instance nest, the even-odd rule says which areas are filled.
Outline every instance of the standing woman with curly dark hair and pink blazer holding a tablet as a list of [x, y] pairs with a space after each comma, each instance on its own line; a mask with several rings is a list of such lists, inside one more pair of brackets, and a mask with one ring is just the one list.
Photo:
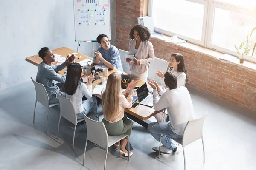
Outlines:
[[131, 29], [129, 54], [136, 59], [127, 58], [130, 65], [130, 74], [146, 81], [148, 79], [149, 63], [154, 61], [154, 48], [150, 39], [150, 31], [143, 25], [136, 25]]

